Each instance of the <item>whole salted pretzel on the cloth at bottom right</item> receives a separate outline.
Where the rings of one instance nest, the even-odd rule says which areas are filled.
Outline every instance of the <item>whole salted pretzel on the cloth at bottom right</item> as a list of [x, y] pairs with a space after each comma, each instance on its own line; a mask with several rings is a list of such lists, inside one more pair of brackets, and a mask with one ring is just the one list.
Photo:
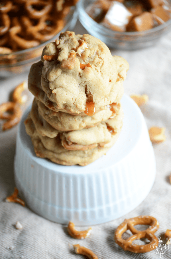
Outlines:
[[[135, 225], [150, 225], [149, 228], [143, 231], [139, 231], [134, 228]], [[115, 231], [114, 240], [121, 246], [124, 250], [131, 251], [134, 253], [145, 253], [153, 250], [158, 245], [158, 239], [154, 233], [158, 230], [159, 223], [152, 216], [139, 216], [135, 218], [125, 219], [124, 222], [119, 225]], [[127, 230], [130, 230], [133, 233], [133, 236], [130, 236], [126, 240], [122, 239], [122, 234]], [[145, 245], [132, 244], [134, 240], [148, 238], [150, 243]], [[151, 248], [151, 244], [153, 244]], [[156, 246], [155, 246], [156, 244]]]

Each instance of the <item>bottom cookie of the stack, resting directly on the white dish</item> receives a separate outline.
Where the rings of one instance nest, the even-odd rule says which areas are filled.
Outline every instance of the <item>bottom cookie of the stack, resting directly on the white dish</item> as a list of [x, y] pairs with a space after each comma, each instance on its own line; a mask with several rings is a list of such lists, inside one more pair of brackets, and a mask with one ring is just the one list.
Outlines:
[[121, 128], [118, 129], [118, 132], [112, 136], [111, 142], [105, 144], [103, 147], [71, 151], [66, 150], [61, 145], [61, 139], [59, 135], [52, 139], [48, 137], [42, 137], [40, 134], [38, 134], [30, 116], [28, 116], [28, 118], [25, 120], [25, 127], [27, 134], [31, 137], [36, 156], [41, 158], [48, 158], [54, 163], [66, 166], [72, 166], [76, 164], [80, 166], [86, 166], [97, 160], [103, 154], [106, 154], [111, 146], [113, 146], [113, 144], [117, 141], [121, 131]]

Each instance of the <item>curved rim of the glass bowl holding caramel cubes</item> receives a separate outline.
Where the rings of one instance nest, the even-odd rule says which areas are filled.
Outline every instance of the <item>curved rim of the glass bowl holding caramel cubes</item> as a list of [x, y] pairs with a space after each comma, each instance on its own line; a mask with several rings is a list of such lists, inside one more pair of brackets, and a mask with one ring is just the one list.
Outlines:
[[[149, 29], [149, 30], [145, 30], [145, 31], [133, 31], [133, 32], [128, 32], [128, 31], [124, 31], [124, 32], [121, 32], [121, 31], [113, 31], [99, 23], [97, 23], [96, 21], [94, 21], [85, 11], [84, 9], [84, 3], [86, 2], [87, 0], [80, 0], [78, 1], [77, 3], [77, 10], [78, 10], [78, 13], [79, 13], [79, 18], [80, 18], [80, 15], [84, 15], [84, 17], [86, 19], [88, 19], [88, 21], [91, 23], [92, 26], [95, 26], [99, 29], [99, 31], [105, 31], [107, 33], [109, 33], [110, 35], [112, 34], [113, 36], [114, 35], [120, 35], [120, 36], [145, 36], [145, 35], [148, 35], [148, 34], [152, 34], [152, 33], [155, 33], [155, 32], [158, 32], [164, 28], [166, 28], [167, 26], [171, 25], [171, 18], [166, 21], [165, 23], [161, 24], [161, 25], [158, 25], [152, 29]], [[95, 0], [94, 0], [95, 1]], [[93, 2], [94, 2], [93, 1]]]

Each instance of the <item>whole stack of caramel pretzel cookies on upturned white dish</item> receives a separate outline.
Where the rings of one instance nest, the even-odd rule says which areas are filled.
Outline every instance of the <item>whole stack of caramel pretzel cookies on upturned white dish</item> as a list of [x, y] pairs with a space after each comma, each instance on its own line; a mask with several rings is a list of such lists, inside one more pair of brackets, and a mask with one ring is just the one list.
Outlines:
[[36, 156], [85, 166], [105, 154], [121, 132], [128, 69], [91, 35], [66, 31], [48, 43], [28, 77], [35, 98], [25, 127]]

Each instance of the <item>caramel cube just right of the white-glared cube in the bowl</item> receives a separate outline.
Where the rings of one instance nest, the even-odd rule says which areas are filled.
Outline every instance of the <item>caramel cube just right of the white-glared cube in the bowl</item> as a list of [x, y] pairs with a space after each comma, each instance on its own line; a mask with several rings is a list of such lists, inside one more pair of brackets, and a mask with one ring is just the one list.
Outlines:
[[127, 25], [127, 31], [145, 31], [153, 27], [154, 22], [152, 16], [148, 12], [133, 17]]

